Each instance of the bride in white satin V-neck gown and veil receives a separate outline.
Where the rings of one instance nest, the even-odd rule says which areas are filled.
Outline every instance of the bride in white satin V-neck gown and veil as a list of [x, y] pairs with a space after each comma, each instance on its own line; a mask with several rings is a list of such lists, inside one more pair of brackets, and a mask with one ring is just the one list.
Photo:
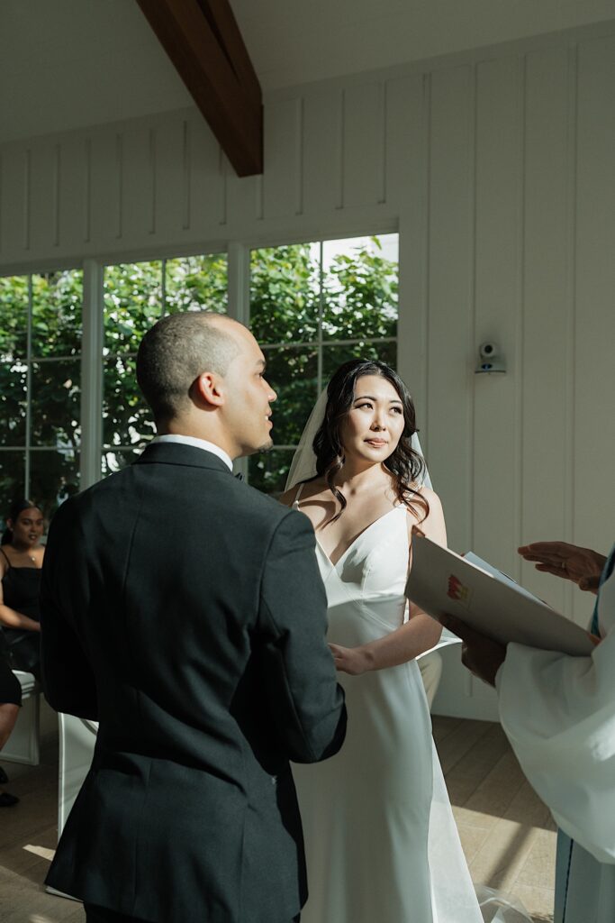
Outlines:
[[293, 768], [310, 887], [302, 923], [482, 921], [415, 660], [441, 629], [408, 613], [404, 596], [412, 526], [446, 542], [415, 433], [396, 372], [352, 360], [314, 408], [282, 497], [313, 523], [349, 712], [337, 756]]

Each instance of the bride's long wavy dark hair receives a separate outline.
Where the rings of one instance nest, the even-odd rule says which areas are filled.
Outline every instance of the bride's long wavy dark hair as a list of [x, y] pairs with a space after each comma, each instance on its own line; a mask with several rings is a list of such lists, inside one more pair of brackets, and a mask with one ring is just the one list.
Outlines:
[[420, 521], [429, 514], [429, 503], [413, 486], [425, 471], [425, 462], [419, 452], [412, 449], [410, 438], [416, 432], [416, 414], [408, 389], [396, 371], [377, 359], [350, 359], [339, 366], [326, 389], [325, 417], [313, 438], [316, 456], [316, 472], [325, 477], [326, 485], [336, 497], [341, 509], [328, 522], [335, 522], [346, 508], [346, 497], [334, 484], [336, 474], [344, 464], [344, 447], [341, 442], [341, 427], [355, 401], [355, 389], [359, 378], [365, 375], [379, 375], [386, 378], [399, 395], [404, 411], [404, 431], [395, 450], [384, 462], [384, 467], [393, 474], [396, 497], [411, 509]]

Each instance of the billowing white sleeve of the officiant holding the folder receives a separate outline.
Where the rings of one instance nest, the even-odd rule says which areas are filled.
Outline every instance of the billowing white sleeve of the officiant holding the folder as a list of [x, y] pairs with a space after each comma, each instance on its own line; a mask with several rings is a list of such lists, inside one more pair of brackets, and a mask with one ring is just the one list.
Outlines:
[[615, 629], [591, 657], [509, 644], [503, 729], [564, 833], [615, 863]]

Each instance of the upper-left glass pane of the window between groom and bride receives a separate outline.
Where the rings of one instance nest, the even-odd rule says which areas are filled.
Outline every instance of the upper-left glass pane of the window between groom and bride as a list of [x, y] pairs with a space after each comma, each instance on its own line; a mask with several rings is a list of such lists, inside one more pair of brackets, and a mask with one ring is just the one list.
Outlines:
[[260, 343], [311, 342], [318, 335], [318, 246], [253, 250], [250, 324]]

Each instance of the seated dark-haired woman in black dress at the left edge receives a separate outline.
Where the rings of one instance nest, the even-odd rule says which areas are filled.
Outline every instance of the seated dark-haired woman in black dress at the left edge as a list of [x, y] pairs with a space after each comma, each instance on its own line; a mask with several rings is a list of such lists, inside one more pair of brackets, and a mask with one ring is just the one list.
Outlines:
[[9, 665], [40, 678], [39, 591], [44, 548], [41, 509], [19, 500], [6, 517], [0, 546], [0, 624]]

